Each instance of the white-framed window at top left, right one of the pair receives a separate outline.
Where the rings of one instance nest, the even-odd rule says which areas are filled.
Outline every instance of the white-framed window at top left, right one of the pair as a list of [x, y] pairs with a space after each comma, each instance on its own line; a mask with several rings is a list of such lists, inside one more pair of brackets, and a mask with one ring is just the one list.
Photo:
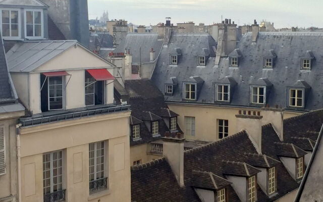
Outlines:
[[26, 37], [43, 36], [43, 17], [42, 10], [25, 11], [25, 33]]

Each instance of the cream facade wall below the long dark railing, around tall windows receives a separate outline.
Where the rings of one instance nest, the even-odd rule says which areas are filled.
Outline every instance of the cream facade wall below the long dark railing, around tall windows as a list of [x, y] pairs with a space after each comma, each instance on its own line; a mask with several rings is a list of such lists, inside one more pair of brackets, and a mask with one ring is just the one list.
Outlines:
[[[42, 201], [42, 155], [63, 150], [67, 201], [130, 202], [130, 112], [42, 124], [20, 129], [22, 201]], [[106, 142], [109, 189], [89, 193], [88, 144]]]

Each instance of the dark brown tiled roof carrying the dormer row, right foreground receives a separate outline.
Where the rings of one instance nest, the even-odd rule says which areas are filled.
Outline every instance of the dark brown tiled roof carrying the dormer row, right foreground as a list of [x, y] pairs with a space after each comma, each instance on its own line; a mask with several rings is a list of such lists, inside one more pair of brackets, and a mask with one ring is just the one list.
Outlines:
[[[316, 133], [323, 123], [323, 116], [321, 115], [322, 110], [316, 110], [285, 120], [284, 134], [287, 133], [287, 135], [290, 135], [288, 130], [291, 130], [295, 125], [299, 125], [296, 129], [298, 130], [298, 133], [294, 133], [293, 131], [291, 131], [291, 133], [297, 137], [304, 135], [304, 131], [307, 130]], [[301, 121], [304, 121], [304, 123]], [[312, 124], [308, 124], [310, 122]], [[257, 198], [258, 201], [261, 202], [276, 201], [278, 198], [297, 189], [299, 184], [290, 176], [289, 172], [280, 162], [279, 155], [281, 150], [275, 149], [276, 142], [280, 142], [280, 139], [273, 126], [271, 124], [263, 125], [261, 134], [262, 155], [256, 154], [257, 150], [245, 131], [230, 135], [216, 142], [211, 142], [184, 151], [185, 186], [183, 188], [179, 187], [165, 158], [131, 167], [132, 200], [156, 202], [200, 201], [198, 197], [194, 196], [195, 191], [192, 189], [192, 186], [202, 184], [203, 186], [207, 186], [206, 188], [210, 188], [212, 184], [205, 174], [203, 174], [203, 177], [200, 177], [200, 179], [204, 180], [204, 183], [201, 183], [201, 180], [196, 180], [196, 176], [194, 175], [195, 171], [193, 170], [212, 173], [225, 179], [224, 173], [228, 168], [226, 168], [226, 164], [223, 164], [223, 161], [235, 161], [242, 162], [240, 164], [231, 163], [232, 165], [239, 165], [240, 168], [242, 168], [238, 169], [239, 172], [245, 171], [244, 165], [247, 165], [248, 163], [259, 167], [275, 165], [277, 171], [277, 194], [268, 197], [257, 185]], [[288, 140], [288, 138], [286, 139]], [[286, 143], [284, 143], [284, 145], [285, 144]], [[303, 153], [304, 151], [297, 149], [297, 152]], [[254, 158], [250, 161], [252, 156], [254, 156]], [[267, 162], [265, 162], [265, 160], [267, 160]], [[231, 164], [229, 163], [229, 165]], [[258, 172], [258, 169], [255, 169], [252, 166], [247, 166], [247, 168], [248, 171], [249, 168], [251, 168], [255, 173]], [[234, 170], [234, 173], [238, 171]], [[246, 171], [244, 174], [246, 175]], [[231, 185], [227, 187], [227, 191], [229, 201], [240, 201]], [[166, 196], [167, 198], [164, 198], [163, 196]]]

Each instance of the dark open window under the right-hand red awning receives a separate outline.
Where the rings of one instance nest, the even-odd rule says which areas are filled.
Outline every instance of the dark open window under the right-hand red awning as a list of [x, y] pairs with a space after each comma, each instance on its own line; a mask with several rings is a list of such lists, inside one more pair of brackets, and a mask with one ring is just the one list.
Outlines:
[[96, 81], [85, 71], [85, 105], [104, 104], [104, 81]]

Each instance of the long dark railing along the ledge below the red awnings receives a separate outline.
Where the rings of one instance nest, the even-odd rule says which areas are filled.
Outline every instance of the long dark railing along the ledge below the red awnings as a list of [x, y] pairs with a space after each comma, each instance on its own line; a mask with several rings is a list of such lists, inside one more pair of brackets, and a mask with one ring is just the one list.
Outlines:
[[56, 121], [68, 120], [68, 119], [75, 119], [75, 118], [89, 117], [89, 116], [95, 116], [95, 115], [100, 115], [100, 114], [128, 111], [129, 108], [130, 108], [130, 105], [123, 105], [123, 106], [116, 106], [116, 107], [109, 106], [109, 107], [104, 107], [104, 108], [89, 109], [89, 110], [79, 111], [79, 112], [67, 112], [67, 113], [63, 113], [63, 114], [37, 117], [37, 118], [27, 117], [27, 118], [20, 118], [19, 123], [21, 123], [22, 126], [32, 126], [32, 125], [51, 123], [51, 122], [56, 122]]

